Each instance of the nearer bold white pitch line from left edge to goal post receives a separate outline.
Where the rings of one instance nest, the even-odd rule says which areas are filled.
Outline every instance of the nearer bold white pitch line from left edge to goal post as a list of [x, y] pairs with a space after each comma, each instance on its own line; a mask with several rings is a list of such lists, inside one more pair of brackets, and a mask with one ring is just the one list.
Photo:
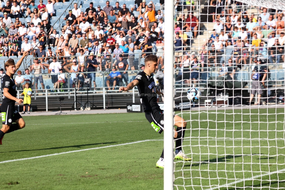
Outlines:
[[3, 163], [8, 163], [8, 162], [15, 162], [15, 161], [21, 161], [21, 160], [31, 160], [35, 158], [43, 158], [43, 157], [48, 157], [48, 156], [55, 156], [55, 155], [60, 155], [60, 154], [67, 154], [67, 153], [73, 153], [73, 152], [81, 152], [81, 151], [89, 151], [89, 150], [95, 150], [95, 149], [100, 149], [100, 148], [110, 148], [114, 146], [122, 146], [122, 145], [128, 145], [128, 144], [135, 144], [135, 143], [141, 143], [141, 142], [147, 142], [147, 141], [163, 141], [160, 139], [149, 139], [149, 140], [144, 140], [144, 141], [135, 141], [135, 142], [130, 142], [130, 143], [124, 143], [124, 144], [116, 144], [116, 145], [110, 145], [110, 146], [102, 146], [102, 147], [96, 147], [96, 148], [86, 148], [82, 150], [76, 150], [76, 151], [68, 151], [68, 152], [61, 152], [61, 153], [55, 153], [55, 154], [48, 154], [48, 155], [43, 155], [43, 156], [35, 156], [35, 157], [30, 157], [30, 158], [21, 158], [21, 159], [15, 159], [15, 160], [6, 160], [0, 162], [0, 164]]

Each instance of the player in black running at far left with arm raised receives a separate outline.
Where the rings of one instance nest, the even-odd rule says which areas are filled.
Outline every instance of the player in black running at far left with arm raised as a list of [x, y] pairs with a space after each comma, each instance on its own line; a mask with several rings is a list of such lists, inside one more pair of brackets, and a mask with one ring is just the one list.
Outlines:
[[[23, 56], [15, 65], [13, 59], [8, 59], [5, 63], [6, 75], [2, 79], [4, 99], [1, 104], [2, 128], [0, 129], [0, 144], [4, 134], [13, 132], [25, 127], [25, 121], [18, 111], [15, 110], [15, 102], [22, 103], [22, 99], [18, 99], [15, 81], [13, 75], [22, 64], [23, 59], [28, 55], [27, 51], [23, 52]], [[13, 123], [14, 122], [14, 123]]]

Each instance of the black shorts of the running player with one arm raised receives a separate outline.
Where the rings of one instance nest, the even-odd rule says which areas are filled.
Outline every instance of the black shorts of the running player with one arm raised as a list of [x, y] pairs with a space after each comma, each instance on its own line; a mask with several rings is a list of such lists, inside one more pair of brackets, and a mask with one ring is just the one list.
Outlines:
[[17, 110], [15, 110], [15, 106], [12, 104], [2, 103], [0, 110], [1, 110], [2, 124], [4, 125], [12, 125], [13, 122], [22, 118], [20, 113]]

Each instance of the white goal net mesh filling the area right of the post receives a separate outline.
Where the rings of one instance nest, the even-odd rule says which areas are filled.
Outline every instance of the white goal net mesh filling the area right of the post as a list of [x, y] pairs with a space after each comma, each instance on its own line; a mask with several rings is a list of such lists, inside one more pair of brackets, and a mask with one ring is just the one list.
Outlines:
[[174, 160], [174, 189], [285, 189], [285, 1], [174, 4], [175, 113], [192, 158]]

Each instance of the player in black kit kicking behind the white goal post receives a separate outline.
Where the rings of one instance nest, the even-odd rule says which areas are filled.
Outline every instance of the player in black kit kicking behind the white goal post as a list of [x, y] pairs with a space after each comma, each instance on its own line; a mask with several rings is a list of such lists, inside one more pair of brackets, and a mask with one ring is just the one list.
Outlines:
[[[163, 110], [159, 108], [157, 103], [157, 96], [163, 95], [160, 91], [156, 90], [155, 82], [152, 73], [157, 70], [157, 56], [148, 55], [145, 58], [145, 69], [138, 73], [135, 79], [128, 84], [127, 87], [120, 87], [120, 91], [128, 91], [133, 87], [138, 86], [140, 93], [140, 102], [145, 111], [145, 117], [150, 122], [152, 127], [159, 134], [164, 130], [164, 115]], [[182, 141], [186, 129], [187, 122], [178, 115], [174, 116], [174, 125], [177, 129], [174, 133], [176, 141], [175, 159], [190, 161], [189, 158], [182, 152]], [[157, 167], [164, 168], [164, 153], [162, 151], [159, 160], [156, 163]]]

